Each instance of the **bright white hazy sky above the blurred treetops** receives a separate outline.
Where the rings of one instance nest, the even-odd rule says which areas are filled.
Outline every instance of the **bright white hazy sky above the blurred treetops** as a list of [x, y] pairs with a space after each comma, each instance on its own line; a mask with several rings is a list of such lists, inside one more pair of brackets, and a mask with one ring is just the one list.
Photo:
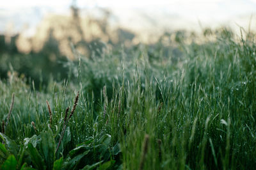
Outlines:
[[[4, 24], [6, 25], [7, 21], [11, 20], [14, 24], [16, 22], [29, 22], [30, 26], [34, 26], [44, 17], [45, 13], [49, 12], [49, 10], [45, 12], [43, 10], [40, 15], [34, 15], [35, 9], [39, 11], [40, 8], [44, 7], [51, 9], [51, 12], [65, 13], [71, 3], [72, 0], [0, 0], [0, 32], [3, 31], [1, 29], [4, 29]], [[140, 24], [141, 20], [136, 19], [138, 12], [147, 15], [150, 19], [159, 20], [159, 23], [162, 21], [163, 24], [169, 16], [177, 15], [180, 19], [184, 19], [184, 22], [191, 21], [190, 24], [198, 24], [198, 20], [200, 20], [207, 26], [216, 23], [223, 24], [227, 21], [242, 26], [243, 24], [248, 25], [248, 18], [256, 14], [256, 0], [77, 0], [76, 4], [81, 9], [109, 8], [123, 24], [128, 26], [133, 24], [129, 21], [134, 21], [134, 25]], [[29, 13], [29, 8], [33, 8], [34, 11]], [[9, 15], [10, 17], [8, 17]], [[256, 15], [254, 18], [256, 20]], [[177, 22], [177, 24], [182, 27], [182, 21]]]

